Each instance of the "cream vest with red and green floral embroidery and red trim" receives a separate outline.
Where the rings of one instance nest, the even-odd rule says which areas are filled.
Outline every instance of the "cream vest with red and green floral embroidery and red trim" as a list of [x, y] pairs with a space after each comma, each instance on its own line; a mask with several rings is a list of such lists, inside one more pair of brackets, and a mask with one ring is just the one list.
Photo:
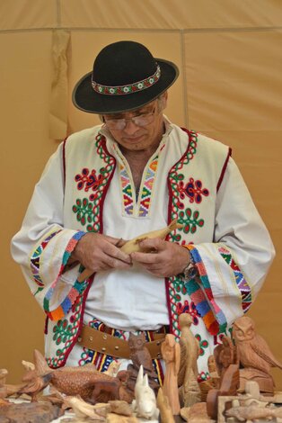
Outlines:
[[[110, 155], [107, 140], [98, 130], [83, 130], [65, 141], [66, 228], [103, 231], [103, 203], [116, 159]], [[168, 223], [177, 218], [183, 228], [171, 233], [167, 240], [185, 245], [213, 242], [216, 193], [224, 178], [230, 150], [216, 140], [175, 125], [172, 125], [168, 140], [166, 157], [172, 162], [167, 175]], [[79, 198], [77, 192], [81, 194]], [[66, 364], [83, 324], [84, 304], [92, 283], [93, 280], [83, 285], [65, 318], [48, 321], [47, 361], [50, 367]], [[185, 311], [185, 299], [191, 293], [180, 276], [166, 279], [166, 292], [171, 332], [178, 338], [181, 334], [178, 316]]]

